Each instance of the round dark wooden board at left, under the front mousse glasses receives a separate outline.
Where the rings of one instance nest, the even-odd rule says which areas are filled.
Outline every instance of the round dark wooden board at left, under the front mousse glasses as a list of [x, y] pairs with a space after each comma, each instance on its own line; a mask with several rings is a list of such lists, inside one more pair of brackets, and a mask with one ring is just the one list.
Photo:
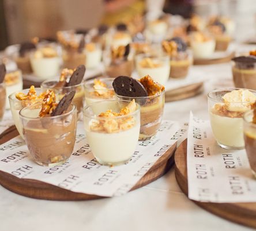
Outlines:
[[[0, 144], [5, 143], [17, 135], [18, 131], [16, 127], [12, 126], [0, 134]], [[156, 161], [156, 163], [137, 182], [137, 184], [131, 188], [130, 191], [155, 181], [170, 170], [174, 164], [175, 150], [176, 144], [172, 145], [172, 147], [168, 149], [168, 151], [165, 152], [164, 155], [159, 158], [159, 160]], [[36, 199], [47, 199], [54, 201], [82, 201], [103, 198], [97, 195], [74, 193], [72, 191], [53, 186], [52, 184], [40, 182], [38, 180], [20, 179], [2, 171], [0, 171], [0, 184], [7, 188], [7, 190], [13, 191], [14, 193]]]

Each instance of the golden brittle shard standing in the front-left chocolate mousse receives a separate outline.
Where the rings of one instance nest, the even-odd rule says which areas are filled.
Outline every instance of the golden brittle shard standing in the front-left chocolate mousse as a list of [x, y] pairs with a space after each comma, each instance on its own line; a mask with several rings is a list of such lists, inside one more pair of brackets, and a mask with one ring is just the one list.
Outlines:
[[50, 115], [57, 105], [58, 103], [56, 103], [54, 90], [47, 90], [43, 98], [42, 109], [39, 113], [39, 117]]

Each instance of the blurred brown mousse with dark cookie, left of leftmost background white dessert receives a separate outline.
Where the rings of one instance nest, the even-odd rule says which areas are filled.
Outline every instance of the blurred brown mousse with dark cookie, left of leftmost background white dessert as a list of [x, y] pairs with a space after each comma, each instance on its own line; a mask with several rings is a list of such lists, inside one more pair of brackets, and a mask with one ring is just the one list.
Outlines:
[[18, 69], [22, 71], [23, 74], [32, 73], [32, 67], [29, 60], [29, 52], [36, 49], [36, 45], [31, 42], [26, 42], [20, 44], [20, 49], [18, 52], [18, 56], [15, 61], [17, 63]]

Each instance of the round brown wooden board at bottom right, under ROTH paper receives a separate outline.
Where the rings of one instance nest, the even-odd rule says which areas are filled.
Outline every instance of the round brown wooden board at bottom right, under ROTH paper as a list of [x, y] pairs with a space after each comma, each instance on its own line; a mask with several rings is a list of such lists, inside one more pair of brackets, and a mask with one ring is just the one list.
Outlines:
[[[187, 186], [187, 140], [175, 152], [175, 176], [179, 187], [188, 195]], [[193, 200], [192, 200], [193, 201]], [[205, 203], [193, 201], [213, 214], [240, 225], [256, 228], [256, 203]]]

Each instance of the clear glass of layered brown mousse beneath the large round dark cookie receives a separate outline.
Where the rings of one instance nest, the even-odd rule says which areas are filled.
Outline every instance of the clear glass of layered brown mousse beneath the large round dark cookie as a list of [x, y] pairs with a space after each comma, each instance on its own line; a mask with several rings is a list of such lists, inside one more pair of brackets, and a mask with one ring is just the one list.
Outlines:
[[131, 101], [135, 99], [141, 107], [141, 128], [139, 140], [149, 140], [157, 133], [161, 125], [161, 120], [164, 111], [165, 93], [162, 91], [159, 94], [149, 97], [123, 97], [116, 95], [119, 100]]

